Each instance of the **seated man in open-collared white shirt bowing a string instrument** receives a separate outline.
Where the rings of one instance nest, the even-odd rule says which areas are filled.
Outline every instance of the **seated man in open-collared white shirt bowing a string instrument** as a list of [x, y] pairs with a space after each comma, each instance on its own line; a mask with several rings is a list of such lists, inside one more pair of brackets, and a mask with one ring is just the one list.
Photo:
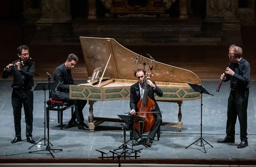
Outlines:
[[130, 87], [130, 114], [136, 115], [139, 111], [137, 104], [144, 95], [145, 84], [148, 84], [148, 97], [155, 102], [155, 110], [151, 110], [154, 111], [153, 116], [155, 117], [155, 124], [151, 128], [150, 133], [148, 134], [148, 137], [146, 139], [142, 138], [139, 135], [139, 132], [133, 128], [133, 137], [137, 140], [134, 145], [146, 144], [148, 147], [151, 147], [151, 144], [153, 143], [159, 126], [162, 123], [160, 109], [157, 102], [155, 101], [154, 93], [157, 93], [158, 96], [162, 97], [163, 92], [156, 86], [155, 82], [152, 83], [152, 81], [150, 81], [149, 79], [145, 82], [145, 73], [143, 70], [138, 69], [136, 72], [134, 72], [134, 75], [135, 77], [137, 77], [138, 82]]

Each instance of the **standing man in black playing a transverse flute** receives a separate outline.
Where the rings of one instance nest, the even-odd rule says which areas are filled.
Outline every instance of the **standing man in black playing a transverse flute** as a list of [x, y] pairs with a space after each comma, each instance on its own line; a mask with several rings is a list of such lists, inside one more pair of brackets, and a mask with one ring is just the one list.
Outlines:
[[11, 100], [15, 138], [11, 143], [22, 141], [20, 121], [23, 104], [27, 142], [35, 144], [36, 142], [32, 138], [34, 94], [31, 91], [32, 86], [34, 86], [33, 74], [35, 71], [35, 63], [29, 58], [29, 48], [26, 45], [21, 45], [17, 48], [17, 51], [19, 59], [7, 65], [2, 75], [2, 77], [6, 79], [9, 75], [13, 74], [13, 92]]

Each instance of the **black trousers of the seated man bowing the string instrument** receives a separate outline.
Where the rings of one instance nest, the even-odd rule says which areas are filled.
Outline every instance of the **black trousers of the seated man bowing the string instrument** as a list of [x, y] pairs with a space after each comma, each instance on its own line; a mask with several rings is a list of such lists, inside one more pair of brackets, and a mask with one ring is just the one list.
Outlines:
[[[159, 129], [159, 126], [162, 123], [162, 117], [161, 117], [161, 115], [159, 113], [153, 113], [153, 116], [155, 117], [155, 124], [151, 128], [151, 130], [150, 130], [150, 132], [148, 134], [148, 137], [147, 137], [147, 138], [150, 138], [150, 140], [154, 140], [155, 135], [157, 134], [157, 131]], [[133, 127], [133, 122], [126, 122], [126, 124], [130, 128]], [[133, 127], [133, 137], [135, 139], [140, 137], [139, 132], [134, 127]]]

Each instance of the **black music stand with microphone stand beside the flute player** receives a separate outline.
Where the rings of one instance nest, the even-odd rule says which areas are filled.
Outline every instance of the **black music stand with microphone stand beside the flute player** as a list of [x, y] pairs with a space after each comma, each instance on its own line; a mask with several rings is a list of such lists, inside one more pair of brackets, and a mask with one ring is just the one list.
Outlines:
[[[50, 101], [50, 90], [54, 90], [54, 89], [56, 89], [57, 87], [58, 87], [58, 85], [59, 85], [59, 83], [60, 82], [50, 82], [50, 77], [48, 77], [48, 82], [41, 82], [41, 83], [37, 83], [36, 84], [36, 86], [35, 86], [35, 88], [34, 88], [34, 90], [44, 90], [45, 92], [46, 92], [46, 90], [49, 90], [49, 101]], [[38, 86], [37, 86], [38, 85]], [[44, 101], [44, 103], [46, 104], [46, 98], [45, 98], [45, 101]], [[44, 104], [44, 105], [45, 105]], [[50, 107], [49, 105], [49, 103], [47, 103], [47, 105], [48, 105], [48, 108]], [[45, 113], [46, 113], [46, 122], [47, 122], [47, 139], [45, 138], [45, 136], [44, 136], [44, 138], [42, 139], [42, 140], [46, 140], [47, 141], [47, 143], [46, 144], [44, 144], [44, 145], [46, 145], [46, 149], [44, 149], [44, 150], [37, 150], [37, 151], [29, 151], [29, 153], [34, 153], [34, 152], [39, 152], [39, 151], [49, 151], [49, 153], [51, 154], [51, 156], [54, 158], [55, 156], [52, 154], [52, 152], [51, 152], [51, 150], [52, 151], [54, 151], [54, 150], [59, 150], [59, 151], [62, 151], [62, 149], [52, 149], [52, 144], [49, 142], [49, 111], [45, 111]], [[44, 122], [44, 128], [45, 128], [45, 122]], [[45, 131], [45, 129], [44, 129], [44, 131]], [[40, 141], [42, 141], [42, 140], [40, 140]], [[39, 141], [39, 142], [40, 142]], [[36, 143], [36, 144], [38, 144], [38, 142]], [[34, 145], [36, 145], [36, 144], [34, 144]], [[31, 147], [33, 147], [34, 145], [32, 145]], [[42, 144], [41, 144], [42, 145]], [[29, 147], [29, 149], [31, 148], [31, 147]]]

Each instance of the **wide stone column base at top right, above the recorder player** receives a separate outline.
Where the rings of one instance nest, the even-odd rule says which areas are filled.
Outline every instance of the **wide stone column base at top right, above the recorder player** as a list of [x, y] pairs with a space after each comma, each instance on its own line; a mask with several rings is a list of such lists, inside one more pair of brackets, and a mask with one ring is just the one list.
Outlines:
[[240, 30], [240, 20], [235, 16], [238, 0], [207, 0], [204, 22], [222, 23], [222, 30]]

